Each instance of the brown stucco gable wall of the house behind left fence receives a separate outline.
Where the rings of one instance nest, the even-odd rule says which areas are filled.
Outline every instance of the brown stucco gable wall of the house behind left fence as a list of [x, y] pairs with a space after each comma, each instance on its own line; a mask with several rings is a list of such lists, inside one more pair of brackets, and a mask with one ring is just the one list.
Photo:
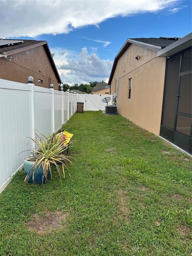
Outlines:
[[[33, 76], [36, 85], [49, 88], [50, 83], [53, 83], [54, 88], [59, 89], [60, 80], [56, 76], [44, 45], [32, 47], [11, 56], [11, 61], [0, 58], [0, 78], [27, 83], [28, 76]], [[11, 72], [7, 72], [7, 70], [11, 70]], [[42, 84], [39, 84], [38, 80], [42, 80]]]

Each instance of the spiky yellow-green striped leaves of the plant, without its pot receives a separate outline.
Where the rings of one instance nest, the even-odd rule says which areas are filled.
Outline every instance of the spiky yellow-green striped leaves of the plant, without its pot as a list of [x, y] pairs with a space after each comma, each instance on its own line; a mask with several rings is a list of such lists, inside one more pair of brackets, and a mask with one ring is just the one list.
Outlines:
[[[66, 151], [66, 146], [63, 145], [63, 142], [60, 136], [56, 138], [54, 134], [53, 135], [47, 134], [47, 136], [44, 136], [43, 134], [41, 135], [42, 137], [38, 136], [38, 134], [35, 134], [35, 138], [34, 139], [31, 138], [36, 144], [36, 149], [35, 148], [33, 149], [33, 156], [35, 158], [34, 159], [35, 163], [32, 169], [30, 170], [30, 172], [28, 173], [28, 175], [26, 176], [25, 183], [28, 182], [31, 175], [33, 176], [33, 180], [34, 180], [35, 168], [37, 167], [40, 168], [41, 165], [43, 169], [42, 181], [43, 181], [43, 178], [45, 177], [47, 182], [48, 180], [47, 177], [49, 172], [52, 178], [52, 170], [51, 170], [52, 165], [56, 166], [57, 172], [61, 179], [61, 176], [65, 178], [64, 168], [66, 168], [66, 164], [65, 164], [66, 161], [72, 164], [72, 161], [70, 160], [71, 157], [66, 156], [64, 154], [64, 152]], [[60, 169], [59, 164], [62, 165], [62, 170]], [[70, 176], [70, 173], [69, 173], [69, 176]]]

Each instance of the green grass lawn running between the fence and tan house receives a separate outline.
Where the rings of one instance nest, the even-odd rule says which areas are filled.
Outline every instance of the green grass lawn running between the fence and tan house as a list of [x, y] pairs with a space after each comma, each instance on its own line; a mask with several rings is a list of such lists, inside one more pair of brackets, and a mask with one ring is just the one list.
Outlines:
[[[64, 128], [71, 178], [14, 176], [0, 194], [0, 255], [191, 255], [191, 158], [122, 116], [87, 111]], [[50, 212], [65, 216], [61, 227], [30, 228]]]

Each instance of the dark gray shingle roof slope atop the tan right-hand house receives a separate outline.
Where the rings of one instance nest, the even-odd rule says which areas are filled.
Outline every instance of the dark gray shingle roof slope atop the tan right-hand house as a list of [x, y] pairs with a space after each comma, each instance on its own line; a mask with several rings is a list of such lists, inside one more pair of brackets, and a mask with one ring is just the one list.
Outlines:
[[141, 38], [130, 38], [130, 39], [138, 41], [138, 42], [142, 42], [142, 43], [145, 43], [145, 44], [152, 44], [152, 45], [155, 45], [155, 46], [161, 46], [162, 48], [164, 48], [164, 47], [176, 42], [179, 38], [178, 37], [173, 37], [173, 38], [166, 38], [166, 37], [145, 38], [145, 37], [141, 37]]

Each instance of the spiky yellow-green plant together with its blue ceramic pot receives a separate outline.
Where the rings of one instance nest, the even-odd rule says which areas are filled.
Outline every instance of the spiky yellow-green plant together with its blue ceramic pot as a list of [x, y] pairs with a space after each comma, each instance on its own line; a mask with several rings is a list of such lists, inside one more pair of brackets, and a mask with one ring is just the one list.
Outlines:
[[50, 134], [47, 136], [35, 134], [32, 141], [36, 144], [36, 148], [32, 150], [31, 156], [23, 158], [26, 174], [25, 183], [46, 183], [50, 177], [52, 178], [53, 166], [56, 167], [60, 179], [62, 176], [65, 178], [66, 161], [71, 164], [72, 162], [71, 157], [65, 155], [66, 145], [63, 144], [61, 137], [54, 136], [54, 134], [51, 136]]

